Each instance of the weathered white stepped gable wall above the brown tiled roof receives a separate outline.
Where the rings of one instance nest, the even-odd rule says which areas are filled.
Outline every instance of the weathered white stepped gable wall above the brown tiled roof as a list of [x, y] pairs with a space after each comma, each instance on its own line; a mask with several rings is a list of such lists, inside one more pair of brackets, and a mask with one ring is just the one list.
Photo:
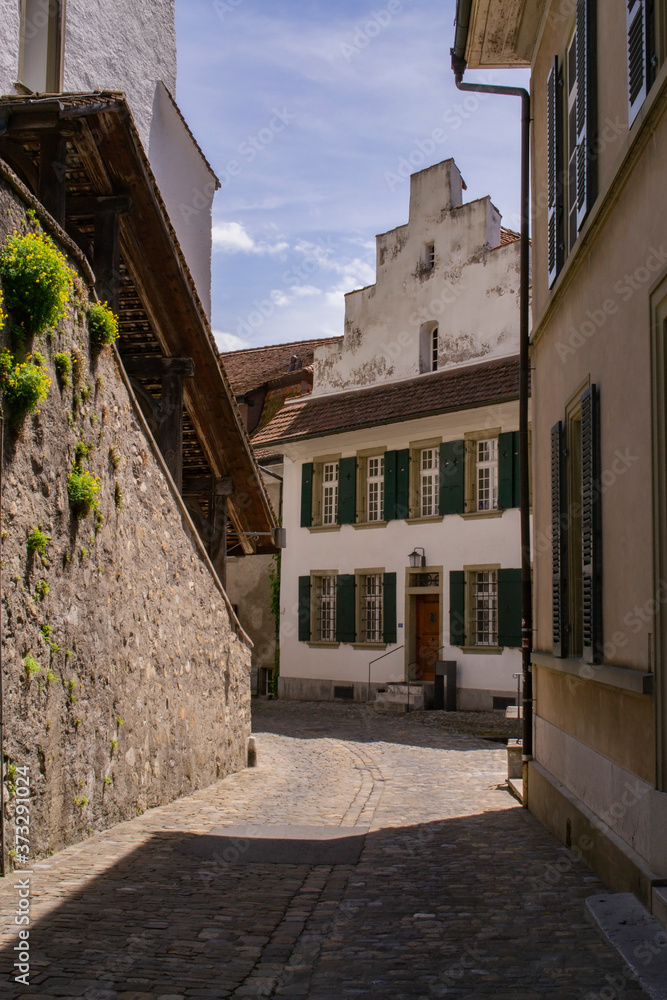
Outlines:
[[500, 223], [489, 198], [463, 204], [453, 160], [413, 174], [409, 222], [377, 237], [376, 283], [345, 297], [343, 342], [315, 350], [314, 394], [417, 375], [428, 321], [439, 368], [518, 353], [519, 243], [498, 246]]

